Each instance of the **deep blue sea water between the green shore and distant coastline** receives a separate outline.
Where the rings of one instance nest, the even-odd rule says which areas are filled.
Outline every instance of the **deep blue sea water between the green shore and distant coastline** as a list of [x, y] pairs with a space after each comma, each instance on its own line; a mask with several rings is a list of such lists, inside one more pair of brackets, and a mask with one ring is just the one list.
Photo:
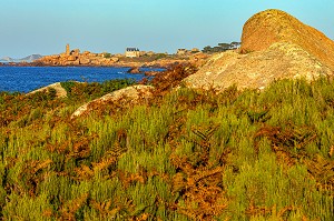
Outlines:
[[[102, 82], [111, 79], [141, 80], [144, 74], [127, 73], [129, 68], [91, 67], [0, 67], [0, 91], [29, 92], [59, 81]], [[161, 69], [141, 69], [161, 70]]]

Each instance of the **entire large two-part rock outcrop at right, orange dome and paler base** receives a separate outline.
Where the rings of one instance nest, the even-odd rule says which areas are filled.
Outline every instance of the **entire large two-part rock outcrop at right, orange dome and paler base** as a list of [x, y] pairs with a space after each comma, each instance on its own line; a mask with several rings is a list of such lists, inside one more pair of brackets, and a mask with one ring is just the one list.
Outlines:
[[[214, 56], [198, 72], [185, 79], [191, 88], [263, 89], [273, 80], [332, 76], [334, 42], [320, 31], [279, 10], [252, 17], [244, 26], [240, 52]], [[332, 50], [332, 51], [328, 51]]]

